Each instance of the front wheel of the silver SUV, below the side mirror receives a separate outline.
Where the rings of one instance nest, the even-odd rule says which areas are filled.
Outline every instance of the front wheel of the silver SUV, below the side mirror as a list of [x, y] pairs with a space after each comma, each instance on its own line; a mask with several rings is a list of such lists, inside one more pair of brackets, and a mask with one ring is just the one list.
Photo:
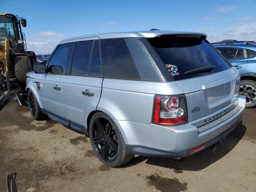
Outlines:
[[42, 120], [44, 114], [41, 112], [38, 101], [31, 90], [28, 90], [28, 104], [32, 118], [34, 120]]

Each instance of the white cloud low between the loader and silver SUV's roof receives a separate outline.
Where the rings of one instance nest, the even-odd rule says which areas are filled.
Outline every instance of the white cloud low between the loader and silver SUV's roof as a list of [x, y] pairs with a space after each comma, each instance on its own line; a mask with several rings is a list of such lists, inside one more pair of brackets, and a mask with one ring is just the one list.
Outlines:
[[53, 31], [41, 31], [27, 38], [27, 47], [36, 54], [51, 53], [61, 40], [68, 37]]

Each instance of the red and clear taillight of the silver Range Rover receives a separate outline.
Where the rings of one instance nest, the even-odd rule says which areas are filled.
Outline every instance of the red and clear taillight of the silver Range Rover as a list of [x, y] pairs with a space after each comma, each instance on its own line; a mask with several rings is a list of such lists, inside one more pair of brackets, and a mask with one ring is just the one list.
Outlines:
[[182, 96], [155, 96], [153, 122], [176, 125], [187, 122], [186, 98]]

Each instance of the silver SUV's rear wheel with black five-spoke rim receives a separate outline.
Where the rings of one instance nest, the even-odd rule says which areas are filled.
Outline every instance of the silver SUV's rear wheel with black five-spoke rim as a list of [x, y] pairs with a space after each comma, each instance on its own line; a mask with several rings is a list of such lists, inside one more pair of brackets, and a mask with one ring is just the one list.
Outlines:
[[89, 134], [94, 152], [106, 166], [118, 167], [134, 157], [128, 153], [122, 133], [107, 114], [97, 112], [92, 116]]

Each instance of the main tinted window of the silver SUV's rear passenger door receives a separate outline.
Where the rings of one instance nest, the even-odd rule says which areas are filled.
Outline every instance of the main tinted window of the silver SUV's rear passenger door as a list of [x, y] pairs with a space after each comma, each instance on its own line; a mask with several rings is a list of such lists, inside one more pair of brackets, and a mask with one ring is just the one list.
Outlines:
[[75, 44], [71, 74], [88, 75], [92, 44], [94, 40], [78, 41]]

